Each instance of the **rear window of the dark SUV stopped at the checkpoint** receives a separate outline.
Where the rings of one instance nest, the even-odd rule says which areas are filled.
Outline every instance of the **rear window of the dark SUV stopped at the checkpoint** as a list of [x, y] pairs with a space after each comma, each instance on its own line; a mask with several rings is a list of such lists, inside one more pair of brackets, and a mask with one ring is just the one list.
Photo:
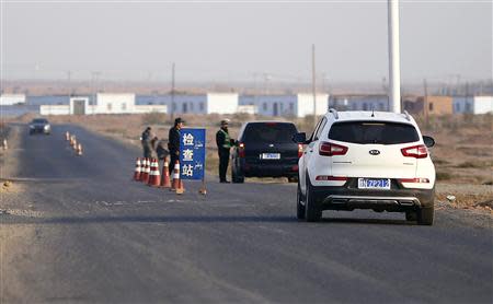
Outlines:
[[255, 122], [246, 125], [244, 142], [293, 142], [295, 125], [286, 122]]

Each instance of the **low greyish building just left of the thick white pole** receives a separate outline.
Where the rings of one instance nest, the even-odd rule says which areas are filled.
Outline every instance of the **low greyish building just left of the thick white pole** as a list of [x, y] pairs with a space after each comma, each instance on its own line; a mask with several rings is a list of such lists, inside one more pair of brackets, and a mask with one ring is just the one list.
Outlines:
[[329, 107], [337, 110], [389, 110], [387, 95], [332, 95]]

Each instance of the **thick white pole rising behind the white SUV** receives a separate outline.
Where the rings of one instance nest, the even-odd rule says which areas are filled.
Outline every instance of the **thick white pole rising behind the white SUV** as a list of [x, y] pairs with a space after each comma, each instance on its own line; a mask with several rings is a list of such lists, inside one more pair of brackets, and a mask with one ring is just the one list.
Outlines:
[[391, 110], [401, 113], [401, 67], [399, 46], [399, 0], [388, 0], [389, 81]]

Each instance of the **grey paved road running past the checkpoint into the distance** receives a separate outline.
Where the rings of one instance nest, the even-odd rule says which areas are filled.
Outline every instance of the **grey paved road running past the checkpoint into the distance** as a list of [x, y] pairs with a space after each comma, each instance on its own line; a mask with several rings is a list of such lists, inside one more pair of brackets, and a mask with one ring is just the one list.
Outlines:
[[[77, 133], [77, 157], [62, 133]], [[130, 182], [139, 151], [72, 126], [22, 138], [20, 204], [0, 215], [4, 302], [491, 303], [492, 230], [438, 211], [295, 219], [288, 184]], [[38, 179], [37, 179], [38, 178]], [[5, 237], [7, 236], [7, 237]]]

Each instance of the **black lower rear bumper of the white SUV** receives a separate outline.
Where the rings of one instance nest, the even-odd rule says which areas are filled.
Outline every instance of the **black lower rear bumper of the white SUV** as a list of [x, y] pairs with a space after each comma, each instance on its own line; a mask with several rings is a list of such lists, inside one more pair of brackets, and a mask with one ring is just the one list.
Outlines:
[[311, 187], [316, 202], [323, 210], [372, 209], [376, 211], [416, 210], [434, 203], [433, 189], [367, 190], [347, 187]]

